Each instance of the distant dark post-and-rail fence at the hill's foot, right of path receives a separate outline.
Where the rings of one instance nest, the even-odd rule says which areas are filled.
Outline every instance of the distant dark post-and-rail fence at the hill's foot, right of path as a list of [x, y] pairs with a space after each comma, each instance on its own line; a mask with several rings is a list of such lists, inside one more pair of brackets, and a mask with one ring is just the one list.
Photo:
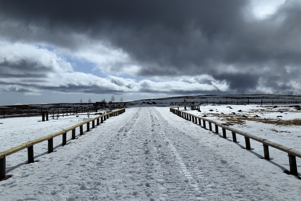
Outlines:
[[[184, 105], [184, 101], [169, 102], [169, 105]], [[250, 101], [250, 99], [204, 99], [197, 101], [187, 101], [187, 106], [192, 105], [265, 105], [265, 104], [301, 104], [299, 99], [261, 99], [261, 101]]]

